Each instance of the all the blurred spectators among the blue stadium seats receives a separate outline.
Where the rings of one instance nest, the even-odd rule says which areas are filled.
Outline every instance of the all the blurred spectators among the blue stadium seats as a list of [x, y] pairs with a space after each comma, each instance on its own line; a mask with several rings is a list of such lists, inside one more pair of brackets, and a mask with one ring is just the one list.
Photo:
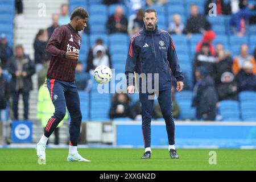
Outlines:
[[[143, 9], [150, 5], [164, 5], [167, 1], [146, 0], [146, 1], [122, 1], [129, 8], [134, 10], [134, 14], [126, 17], [122, 6], [118, 6], [113, 15], [110, 15], [106, 23], [108, 34], [124, 33], [133, 35], [143, 27]], [[218, 15], [232, 16], [230, 26], [233, 27], [233, 34], [246, 36], [249, 24], [256, 23], [255, 17], [249, 15], [249, 10], [255, 9], [254, 5], [249, 5], [243, 1], [206, 1], [205, 14], [199, 14], [197, 5], [191, 5], [191, 16], [183, 24], [181, 16], [172, 16], [172, 22], [168, 26], [168, 32], [173, 34], [185, 34], [191, 38], [192, 34], [203, 34], [203, 39], [197, 43], [195, 57], [192, 61], [193, 69], [193, 106], [197, 108], [196, 118], [203, 120], [214, 120], [216, 117], [216, 107], [222, 100], [237, 100], [238, 93], [251, 90], [256, 92], [256, 49], [254, 55], [249, 54], [249, 47], [243, 44], [240, 48], [240, 55], [232, 55], [229, 50], [225, 50], [221, 43], [214, 46], [213, 40], [216, 37], [212, 31], [212, 25], [208, 22], [206, 15], [209, 11], [210, 2], [217, 2]], [[119, 1], [103, 1], [110, 3], [120, 3]], [[22, 10], [19, 9], [19, 12]], [[28, 119], [28, 98], [32, 90], [31, 76], [38, 74], [38, 89], [46, 79], [50, 56], [45, 52], [45, 48], [54, 29], [61, 24], [69, 23], [68, 4], [61, 5], [60, 14], [52, 15], [52, 25], [45, 30], [39, 30], [34, 40], [34, 60], [31, 60], [24, 52], [22, 45], [13, 48], [8, 46], [6, 35], [0, 35], [0, 110], [8, 105], [9, 98], [13, 103], [13, 118], [18, 117], [18, 99], [23, 96], [24, 119]], [[89, 34], [90, 27], [80, 34]], [[1, 32], [0, 32], [1, 33]], [[82, 50], [81, 50], [82, 51]], [[179, 55], [178, 55], [179, 57]], [[124, 60], [125, 61], [125, 60]], [[95, 44], [89, 48], [88, 56], [83, 63], [78, 63], [76, 68], [76, 84], [79, 90], [90, 91], [92, 85], [91, 75], [98, 65], [112, 67], [111, 55], [108, 47], [102, 39], [97, 39]], [[181, 67], [182, 69], [182, 67]], [[11, 75], [11, 77], [9, 77]], [[174, 81], [175, 84], [175, 81]], [[175, 85], [174, 85], [175, 86]], [[189, 88], [188, 88], [189, 89]], [[179, 106], [175, 102], [175, 92], [173, 91], [173, 114], [179, 117]], [[47, 92], [47, 90], [45, 90]], [[139, 118], [141, 115], [139, 102], [131, 105], [130, 97], [126, 94], [115, 94], [112, 106], [109, 111], [111, 119], [117, 117]], [[159, 112], [159, 105], [154, 106], [154, 117], [162, 117]], [[1, 114], [1, 113], [0, 113]], [[1, 117], [1, 115], [0, 115]], [[3, 117], [3, 116], [2, 116]], [[1, 120], [1, 118], [0, 118]]]

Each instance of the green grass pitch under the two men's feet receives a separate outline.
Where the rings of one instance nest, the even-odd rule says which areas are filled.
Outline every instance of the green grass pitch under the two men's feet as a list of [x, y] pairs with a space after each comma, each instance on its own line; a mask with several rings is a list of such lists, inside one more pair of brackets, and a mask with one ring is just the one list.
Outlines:
[[[216, 151], [217, 164], [209, 164], [209, 151]], [[140, 159], [143, 149], [82, 148], [79, 153], [91, 163], [66, 162], [68, 148], [47, 148], [46, 165], [37, 163], [36, 150], [0, 148], [0, 170], [256, 170], [256, 150], [177, 150], [180, 159], [170, 159], [168, 150], [152, 149], [151, 159]]]

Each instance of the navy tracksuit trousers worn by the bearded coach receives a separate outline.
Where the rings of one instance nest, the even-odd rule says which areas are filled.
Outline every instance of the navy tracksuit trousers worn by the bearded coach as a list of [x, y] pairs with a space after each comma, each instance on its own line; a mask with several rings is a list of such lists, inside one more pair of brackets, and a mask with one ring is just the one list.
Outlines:
[[[172, 97], [171, 89], [159, 91], [158, 102], [163, 114], [164, 121], [166, 122], [166, 130], [168, 135], [169, 144], [175, 144], [175, 125], [174, 118], [172, 117]], [[139, 93], [139, 101], [142, 105], [142, 135], [144, 140], [144, 147], [151, 145], [151, 118], [154, 107], [154, 100], [149, 100], [148, 96], [152, 94]]]

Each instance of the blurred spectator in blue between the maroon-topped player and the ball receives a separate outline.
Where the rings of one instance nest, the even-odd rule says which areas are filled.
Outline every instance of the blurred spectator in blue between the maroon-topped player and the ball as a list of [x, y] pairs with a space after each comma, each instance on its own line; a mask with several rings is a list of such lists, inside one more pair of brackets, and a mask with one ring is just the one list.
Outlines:
[[82, 70], [82, 63], [78, 62], [76, 65], [75, 82], [78, 90], [90, 90], [91, 80], [89, 73]]

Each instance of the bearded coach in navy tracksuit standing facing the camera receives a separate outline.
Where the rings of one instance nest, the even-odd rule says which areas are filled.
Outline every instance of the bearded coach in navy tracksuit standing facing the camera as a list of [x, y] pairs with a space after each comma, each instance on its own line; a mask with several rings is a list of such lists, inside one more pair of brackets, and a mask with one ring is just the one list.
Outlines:
[[[128, 93], [134, 93], [135, 90], [134, 72], [139, 75], [141, 75], [141, 73], [159, 74], [158, 80], [156, 80], [157, 77], [147, 75], [147, 81], [140, 79], [139, 82], [139, 100], [142, 104], [142, 134], [145, 147], [142, 159], [150, 159], [151, 157], [150, 125], [154, 105], [152, 98], [154, 99], [155, 94], [158, 96], [163, 118], [166, 122], [170, 156], [171, 158], [179, 158], [174, 146], [175, 125], [174, 118], [172, 117], [171, 71], [177, 80], [176, 90], [178, 92], [183, 89], [184, 76], [177, 63], [177, 55], [171, 36], [167, 31], [159, 30], [156, 26], [156, 11], [154, 9], [147, 9], [144, 13], [143, 20], [143, 30], [137, 32], [137, 34], [131, 38], [125, 68]], [[155, 83], [157, 86], [154, 86]], [[152, 89], [150, 89], [151, 87], [148, 88], [148, 85], [152, 85]]]

